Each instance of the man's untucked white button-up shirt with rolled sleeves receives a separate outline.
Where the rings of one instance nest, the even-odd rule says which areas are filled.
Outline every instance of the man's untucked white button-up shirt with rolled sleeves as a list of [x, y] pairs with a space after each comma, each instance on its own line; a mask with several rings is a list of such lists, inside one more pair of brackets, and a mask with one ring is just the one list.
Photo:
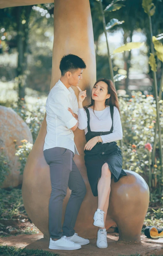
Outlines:
[[74, 133], [70, 130], [77, 124], [77, 120], [68, 111], [68, 107], [78, 115], [78, 101], [74, 90], [65, 87], [59, 79], [46, 101], [47, 134], [43, 150], [63, 147], [79, 155], [74, 143]]

